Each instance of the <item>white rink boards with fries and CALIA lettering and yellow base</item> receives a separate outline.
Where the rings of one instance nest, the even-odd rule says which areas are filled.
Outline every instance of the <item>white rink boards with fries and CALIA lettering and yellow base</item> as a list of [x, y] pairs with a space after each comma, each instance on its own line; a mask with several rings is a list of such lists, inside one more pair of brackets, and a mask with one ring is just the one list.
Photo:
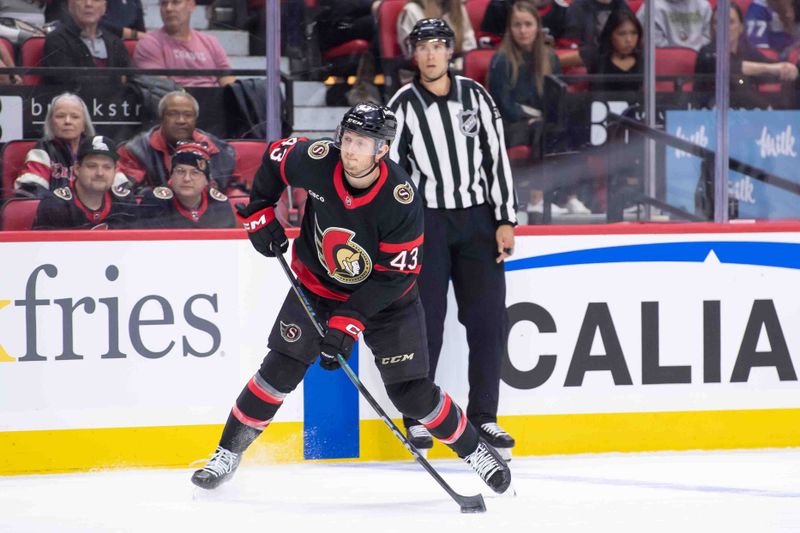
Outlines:
[[[519, 233], [499, 410], [517, 455], [800, 445], [800, 224]], [[235, 230], [7, 232], [0, 257], [0, 474], [206, 456], [288, 290]], [[463, 404], [450, 300], [437, 381]], [[311, 372], [248, 461], [407, 457], [343, 373]]]

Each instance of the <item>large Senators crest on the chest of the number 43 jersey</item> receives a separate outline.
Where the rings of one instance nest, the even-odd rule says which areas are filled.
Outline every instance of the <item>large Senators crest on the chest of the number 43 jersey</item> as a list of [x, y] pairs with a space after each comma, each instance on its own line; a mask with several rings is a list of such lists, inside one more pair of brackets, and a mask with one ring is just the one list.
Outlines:
[[328, 228], [324, 232], [315, 220], [314, 240], [317, 257], [328, 275], [340, 283], [361, 283], [372, 272], [369, 254], [353, 241], [355, 233], [344, 228]]

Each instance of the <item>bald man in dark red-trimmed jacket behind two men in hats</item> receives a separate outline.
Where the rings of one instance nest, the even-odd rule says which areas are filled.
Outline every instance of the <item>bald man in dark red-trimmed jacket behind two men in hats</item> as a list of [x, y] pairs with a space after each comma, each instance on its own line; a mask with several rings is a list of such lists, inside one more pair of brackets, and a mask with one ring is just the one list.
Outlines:
[[120, 166], [137, 187], [158, 187], [169, 181], [170, 159], [181, 141], [205, 145], [211, 159], [211, 175], [225, 190], [236, 164], [236, 153], [228, 143], [197, 128], [200, 108], [184, 91], [167, 93], [158, 104], [158, 126], [142, 132], [122, 146]]

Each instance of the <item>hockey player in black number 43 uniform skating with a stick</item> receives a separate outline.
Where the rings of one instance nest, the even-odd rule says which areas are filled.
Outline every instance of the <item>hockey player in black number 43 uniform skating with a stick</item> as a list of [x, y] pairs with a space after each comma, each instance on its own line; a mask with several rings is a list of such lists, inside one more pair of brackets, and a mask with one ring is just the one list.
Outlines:
[[[274, 257], [289, 242], [274, 206], [287, 185], [308, 190], [292, 269], [309, 294], [320, 339], [290, 290], [269, 336], [270, 351], [233, 406], [219, 446], [192, 482], [213, 489], [228, 480], [242, 453], [272, 421], [317, 356], [339, 368], [360, 333], [386, 392], [404, 415], [464, 459], [498, 493], [511, 471], [478, 435], [461, 408], [428, 378], [425, 319], [416, 278], [422, 264], [422, 204], [408, 174], [388, 160], [397, 121], [385, 107], [358, 104], [345, 113], [335, 141], [289, 138], [272, 143], [255, 177], [250, 204], [239, 208], [250, 240]], [[410, 357], [392, 358], [399, 354]]]

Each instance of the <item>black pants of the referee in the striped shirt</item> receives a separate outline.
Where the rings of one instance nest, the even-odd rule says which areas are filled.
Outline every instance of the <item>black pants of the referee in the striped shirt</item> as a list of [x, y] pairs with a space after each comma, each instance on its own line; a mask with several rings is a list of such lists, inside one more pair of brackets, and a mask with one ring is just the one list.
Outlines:
[[[475, 425], [497, 421], [500, 367], [508, 338], [505, 269], [495, 262], [496, 230], [488, 205], [425, 209], [418, 283], [428, 330], [430, 378], [435, 381], [452, 279], [458, 320], [467, 330], [467, 418]], [[408, 425], [411, 421], [405, 422]]]

